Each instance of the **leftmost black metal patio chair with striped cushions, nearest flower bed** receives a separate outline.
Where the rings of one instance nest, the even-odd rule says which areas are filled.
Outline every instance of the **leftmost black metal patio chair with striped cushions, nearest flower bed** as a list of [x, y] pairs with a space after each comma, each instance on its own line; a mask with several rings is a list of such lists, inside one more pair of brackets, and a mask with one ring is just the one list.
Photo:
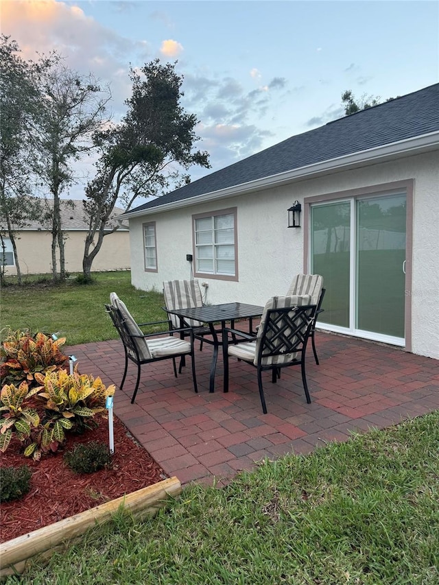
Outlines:
[[[176, 358], [184, 358], [187, 355], [190, 355], [192, 362], [193, 389], [195, 392], [198, 392], [195, 374], [194, 337], [191, 328], [171, 329], [171, 323], [169, 320], [137, 324], [132, 318], [130, 311], [126, 308], [125, 303], [119, 299], [116, 293], [110, 294], [110, 305], [105, 305], [105, 308], [121, 337], [123, 349], [125, 350], [125, 369], [123, 370], [123, 378], [120, 385], [121, 390], [126, 380], [128, 360], [137, 365], [137, 381], [131, 398], [132, 404], [134, 403], [139, 388], [141, 366], [143, 366], [144, 363], [154, 363], [155, 361], [162, 361], [163, 359], [172, 359], [174, 376], [177, 377]], [[143, 333], [143, 331], [141, 331], [141, 327], [158, 324], [166, 324], [168, 329], [166, 331], [154, 333]], [[173, 335], [174, 333], [184, 333], [185, 336], [189, 337], [189, 341], [180, 339], [180, 336]], [[158, 337], [159, 335], [162, 337]], [[181, 369], [182, 361], [180, 361], [179, 372], [181, 372]]]

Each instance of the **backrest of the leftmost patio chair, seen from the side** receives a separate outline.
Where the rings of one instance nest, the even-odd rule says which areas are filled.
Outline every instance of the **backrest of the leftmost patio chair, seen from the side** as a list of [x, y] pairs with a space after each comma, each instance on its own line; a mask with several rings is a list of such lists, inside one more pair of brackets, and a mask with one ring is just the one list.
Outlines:
[[111, 320], [130, 356], [135, 360], [152, 359], [139, 325], [116, 293], [110, 293], [110, 305], [106, 305], [106, 310], [110, 313]]

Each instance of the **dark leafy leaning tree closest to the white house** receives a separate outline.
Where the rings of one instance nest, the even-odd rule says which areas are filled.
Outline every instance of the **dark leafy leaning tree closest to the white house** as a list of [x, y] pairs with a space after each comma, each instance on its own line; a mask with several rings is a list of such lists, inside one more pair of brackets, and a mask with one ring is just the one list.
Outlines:
[[131, 69], [130, 80], [128, 112], [119, 124], [95, 134], [100, 156], [84, 203], [89, 218], [82, 261], [86, 282], [104, 235], [110, 233], [104, 229], [118, 199], [128, 211], [139, 195], [161, 195], [189, 182], [183, 171], [191, 165], [210, 166], [206, 152], [193, 150], [198, 119], [180, 105], [183, 77], [176, 74], [175, 64], [156, 59], [139, 73]]

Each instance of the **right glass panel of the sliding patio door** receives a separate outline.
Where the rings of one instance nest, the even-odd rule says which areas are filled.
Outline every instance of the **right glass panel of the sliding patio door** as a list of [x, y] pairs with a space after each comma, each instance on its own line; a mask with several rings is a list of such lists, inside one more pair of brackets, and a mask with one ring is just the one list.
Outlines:
[[405, 195], [357, 200], [355, 329], [404, 337]]

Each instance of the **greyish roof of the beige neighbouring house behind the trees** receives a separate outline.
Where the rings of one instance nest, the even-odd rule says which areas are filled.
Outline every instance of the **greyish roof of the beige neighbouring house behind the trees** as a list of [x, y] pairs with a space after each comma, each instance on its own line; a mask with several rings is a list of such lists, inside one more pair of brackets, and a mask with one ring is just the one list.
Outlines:
[[[47, 199], [45, 200], [47, 205], [51, 208], [54, 207], [54, 200]], [[88, 231], [88, 222], [84, 218], [84, 200], [82, 199], [75, 199], [75, 200], [60, 200], [60, 215], [61, 215], [61, 225], [64, 231]], [[73, 204], [73, 205], [72, 205]], [[106, 229], [112, 230], [115, 226], [117, 226], [117, 221], [114, 219], [118, 215], [123, 213], [123, 209], [120, 207], [115, 207], [112, 211], [112, 215], [106, 224]], [[51, 230], [50, 220], [32, 220], [27, 222], [23, 230], [41, 230], [47, 231]], [[128, 226], [120, 227], [119, 230], [128, 230]], [[118, 231], [119, 231], [118, 230]]]

